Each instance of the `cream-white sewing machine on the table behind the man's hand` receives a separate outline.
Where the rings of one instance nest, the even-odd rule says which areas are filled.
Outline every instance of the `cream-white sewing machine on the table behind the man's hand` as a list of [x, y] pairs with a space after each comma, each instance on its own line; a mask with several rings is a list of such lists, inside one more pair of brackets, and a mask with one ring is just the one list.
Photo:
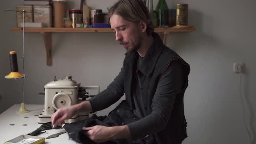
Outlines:
[[[42, 115], [38, 116], [38, 123], [46, 123], [51, 121], [54, 112], [59, 108], [78, 104], [85, 101], [86, 98], [93, 97], [86, 92], [88, 89], [97, 89], [97, 94], [100, 92], [99, 86], [80, 86], [79, 83], [72, 80], [72, 75], [66, 76], [65, 79], [54, 78], [54, 81], [47, 83], [44, 86], [45, 92], [39, 94], [45, 95], [44, 109]], [[72, 123], [89, 118], [89, 113], [80, 112], [72, 118], [65, 120], [65, 123]]]

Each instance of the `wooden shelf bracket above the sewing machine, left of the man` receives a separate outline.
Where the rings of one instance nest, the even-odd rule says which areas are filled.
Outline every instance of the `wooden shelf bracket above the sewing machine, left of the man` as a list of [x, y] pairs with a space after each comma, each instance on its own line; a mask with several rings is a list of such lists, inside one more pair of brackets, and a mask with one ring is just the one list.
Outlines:
[[52, 33], [51, 32], [41, 32], [43, 34], [43, 40], [46, 48], [46, 65], [52, 66]]

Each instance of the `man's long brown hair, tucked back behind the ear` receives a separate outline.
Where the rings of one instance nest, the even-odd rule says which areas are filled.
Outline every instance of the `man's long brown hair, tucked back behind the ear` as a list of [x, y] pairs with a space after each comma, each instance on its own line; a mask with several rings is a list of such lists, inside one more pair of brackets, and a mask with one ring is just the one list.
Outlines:
[[108, 21], [113, 14], [135, 23], [143, 21], [147, 24], [146, 32], [148, 36], [151, 36], [154, 31], [148, 8], [142, 0], [118, 0], [108, 12]]

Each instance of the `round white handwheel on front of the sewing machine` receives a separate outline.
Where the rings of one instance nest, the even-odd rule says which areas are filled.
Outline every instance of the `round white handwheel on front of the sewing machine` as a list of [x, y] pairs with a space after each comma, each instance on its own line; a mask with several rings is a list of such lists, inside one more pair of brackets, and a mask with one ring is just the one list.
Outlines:
[[59, 108], [67, 107], [72, 104], [71, 98], [64, 92], [58, 93], [53, 97], [53, 107], [57, 110]]

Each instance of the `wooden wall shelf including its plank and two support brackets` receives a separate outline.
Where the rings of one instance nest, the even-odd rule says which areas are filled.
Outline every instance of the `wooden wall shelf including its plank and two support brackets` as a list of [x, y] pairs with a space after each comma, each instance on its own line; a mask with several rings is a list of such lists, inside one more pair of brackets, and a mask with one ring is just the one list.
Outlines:
[[[11, 28], [11, 31], [23, 32], [23, 28]], [[65, 32], [114, 32], [111, 28], [32, 28], [28, 27], [24, 29], [25, 32], [39, 32], [43, 34], [43, 39], [46, 47], [46, 64], [52, 65], [52, 33], [65, 33]], [[154, 28], [154, 32], [159, 33], [164, 44], [166, 43], [166, 37], [169, 33], [174, 32], [194, 32], [194, 26], [190, 28]]]

